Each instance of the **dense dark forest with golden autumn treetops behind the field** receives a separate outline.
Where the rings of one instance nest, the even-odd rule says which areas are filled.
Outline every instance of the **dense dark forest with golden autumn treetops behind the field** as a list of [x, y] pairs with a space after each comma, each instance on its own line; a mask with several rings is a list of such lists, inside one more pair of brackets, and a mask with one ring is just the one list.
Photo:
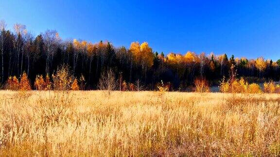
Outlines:
[[227, 54], [206, 55], [155, 52], [147, 42], [133, 42], [130, 47], [114, 47], [110, 42], [91, 43], [83, 40], [62, 40], [57, 31], [47, 30], [37, 36], [25, 25], [15, 24], [7, 30], [0, 21], [0, 82], [25, 72], [34, 82], [37, 75], [52, 75], [62, 64], [68, 64], [75, 77], [84, 76], [86, 89], [96, 89], [103, 71], [112, 69], [117, 78], [127, 83], [140, 80], [148, 90], [161, 82], [169, 82], [173, 90], [184, 90], [195, 78], [206, 78], [217, 85], [228, 77], [232, 65], [239, 77], [248, 81], [278, 81], [280, 60], [235, 58]]

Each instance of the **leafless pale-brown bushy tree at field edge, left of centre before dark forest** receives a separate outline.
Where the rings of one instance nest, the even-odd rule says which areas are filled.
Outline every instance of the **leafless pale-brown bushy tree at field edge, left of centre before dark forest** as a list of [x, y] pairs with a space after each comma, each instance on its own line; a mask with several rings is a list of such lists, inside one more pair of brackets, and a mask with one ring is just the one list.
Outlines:
[[113, 70], [109, 69], [101, 74], [99, 79], [98, 88], [105, 91], [105, 94], [110, 96], [112, 91], [117, 89], [118, 81], [116, 80]]

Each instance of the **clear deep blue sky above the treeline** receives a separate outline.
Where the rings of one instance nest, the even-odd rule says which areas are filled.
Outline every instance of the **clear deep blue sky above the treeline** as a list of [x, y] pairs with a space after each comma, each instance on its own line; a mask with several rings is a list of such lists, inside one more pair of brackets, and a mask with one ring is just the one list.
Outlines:
[[0, 19], [116, 47], [280, 59], [280, 0], [0, 0]]

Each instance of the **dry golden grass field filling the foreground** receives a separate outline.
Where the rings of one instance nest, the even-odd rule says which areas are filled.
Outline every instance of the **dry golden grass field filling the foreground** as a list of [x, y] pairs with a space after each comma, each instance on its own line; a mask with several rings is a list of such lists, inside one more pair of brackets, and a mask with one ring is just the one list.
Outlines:
[[0, 91], [0, 100], [2, 156], [280, 156], [279, 94]]

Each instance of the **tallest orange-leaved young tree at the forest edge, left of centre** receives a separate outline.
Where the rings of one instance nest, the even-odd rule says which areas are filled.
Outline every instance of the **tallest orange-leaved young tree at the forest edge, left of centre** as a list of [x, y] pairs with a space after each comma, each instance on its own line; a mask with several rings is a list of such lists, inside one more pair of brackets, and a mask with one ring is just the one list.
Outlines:
[[56, 74], [53, 74], [52, 78], [54, 90], [69, 90], [74, 81], [74, 76], [70, 73], [69, 66], [67, 65], [62, 65]]

